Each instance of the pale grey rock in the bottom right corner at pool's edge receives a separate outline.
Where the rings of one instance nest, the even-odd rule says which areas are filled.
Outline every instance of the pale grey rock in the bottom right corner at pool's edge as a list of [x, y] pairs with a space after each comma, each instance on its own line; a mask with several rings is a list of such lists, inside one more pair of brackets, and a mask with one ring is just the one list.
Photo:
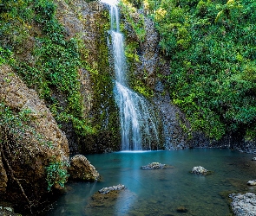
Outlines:
[[231, 207], [235, 216], [254, 216], [256, 213], [256, 195], [253, 193], [230, 194]]

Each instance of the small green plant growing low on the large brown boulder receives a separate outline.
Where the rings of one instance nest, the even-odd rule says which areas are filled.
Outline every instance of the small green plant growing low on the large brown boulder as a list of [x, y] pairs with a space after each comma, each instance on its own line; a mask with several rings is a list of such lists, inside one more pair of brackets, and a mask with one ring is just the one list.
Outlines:
[[64, 187], [64, 184], [68, 181], [68, 164], [64, 162], [50, 162], [49, 166], [46, 167], [46, 181], [48, 183], [48, 190], [50, 191], [51, 187], [58, 184], [60, 187]]

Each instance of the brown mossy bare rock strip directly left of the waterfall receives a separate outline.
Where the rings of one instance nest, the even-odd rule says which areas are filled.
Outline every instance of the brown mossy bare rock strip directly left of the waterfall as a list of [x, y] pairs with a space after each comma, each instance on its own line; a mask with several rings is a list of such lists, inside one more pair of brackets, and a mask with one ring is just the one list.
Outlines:
[[[112, 92], [112, 73], [108, 64], [108, 6], [98, 1], [56, 0], [56, 17], [67, 37], [81, 41], [82, 60], [89, 67], [78, 69], [82, 95], [83, 118], [98, 128], [96, 135], [82, 137], [75, 134], [72, 124], [63, 124], [72, 154], [102, 153], [119, 150], [119, 121]], [[108, 81], [109, 80], [109, 81]], [[115, 129], [115, 130], [113, 130]], [[117, 131], [118, 130], [118, 131]]]

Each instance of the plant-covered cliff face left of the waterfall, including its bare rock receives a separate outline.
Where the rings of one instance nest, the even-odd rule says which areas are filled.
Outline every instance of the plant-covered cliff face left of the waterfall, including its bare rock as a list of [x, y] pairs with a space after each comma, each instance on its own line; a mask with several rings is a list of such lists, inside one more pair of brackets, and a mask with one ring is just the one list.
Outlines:
[[[94, 18], [82, 14], [83, 7], [89, 7], [86, 12]], [[81, 147], [75, 148], [86, 152], [97, 151], [97, 146], [104, 151], [107, 143], [108, 149], [118, 149], [106, 39], [109, 16], [98, 7], [83, 1], [0, 1], [0, 64], [15, 68], [45, 100], [59, 126], [75, 131], [69, 134], [72, 144]], [[69, 25], [74, 19], [77, 29]], [[90, 32], [93, 42], [84, 36]], [[82, 95], [84, 81], [92, 89]]]

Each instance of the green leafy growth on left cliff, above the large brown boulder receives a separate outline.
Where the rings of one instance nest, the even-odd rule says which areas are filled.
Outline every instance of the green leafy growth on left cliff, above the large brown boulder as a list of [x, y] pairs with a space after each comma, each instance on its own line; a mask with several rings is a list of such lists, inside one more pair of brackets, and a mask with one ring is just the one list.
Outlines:
[[[4, 9], [0, 11], [0, 64], [15, 67], [27, 86], [36, 89], [49, 107], [56, 107], [56, 119], [61, 123], [71, 122], [76, 133], [85, 136], [95, 130], [83, 120], [78, 80], [78, 68], [82, 67], [78, 48], [81, 41], [65, 40], [55, 13], [53, 1], [4, 1]], [[31, 30], [36, 30], [33, 43], [29, 41]], [[32, 54], [32, 60], [20, 59], [26, 52]], [[65, 103], [56, 97], [59, 94], [66, 98]]]

